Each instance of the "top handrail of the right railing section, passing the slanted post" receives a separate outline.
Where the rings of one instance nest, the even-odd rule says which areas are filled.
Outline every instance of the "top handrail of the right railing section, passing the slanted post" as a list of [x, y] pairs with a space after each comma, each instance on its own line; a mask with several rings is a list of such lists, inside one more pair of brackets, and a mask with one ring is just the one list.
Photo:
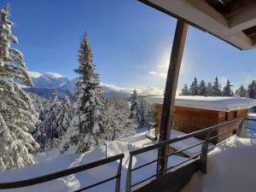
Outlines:
[[133, 156], [133, 155], [136, 155], [136, 154], [142, 154], [143, 152], [146, 152], [146, 151], [149, 151], [149, 150], [153, 150], [153, 149], [155, 149], [155, 148], [160, 148], [160, 147], [163, 147], [163, 146], [168, 145], [168, 144], [171, 144], [171, 143], [176, 143], [176, 142], [179, 142], [179, 141], [181, 141], [181, 140], [183, 140], [183, 139], [186, 139], [186, 138], [189, 138], [189, 137], [195, 137], [195, 136], [198, 136], [198, 135], [207, 133], [207, 132], [211, 132], [211, 131], [218, 130], [218, 129], [220, 129], [220, 128], [226, 126], [226, 125], [230, 125], [230, 124], [239, 122], [239, 121], [241, 121], [242, 119], [243, 119], [243, 118], [231, 120], [231, 121], [225, 122], [224, 124], [214, 125], [214, 126], [211, 126], [211, 127], [206, 128], [206, 129], [204, 129], [204, 130], [195, 131], [195, 132], [186, 134], [186, 135], [181, 136], [181, 137], [172, 138], [172, 139], [170, 139], [170, 140], [166, 140], [166, 141], [164, 141], [164, 142], [156, 143], [156, 144], [154, 144], [154, 145], [150, 145], [150, 146], [145, 147], [145, 148], [138, 148], [138, 149], [136, 149], [136, 150], [130, 151], [130, 154], [131, 154], [132, 156]]

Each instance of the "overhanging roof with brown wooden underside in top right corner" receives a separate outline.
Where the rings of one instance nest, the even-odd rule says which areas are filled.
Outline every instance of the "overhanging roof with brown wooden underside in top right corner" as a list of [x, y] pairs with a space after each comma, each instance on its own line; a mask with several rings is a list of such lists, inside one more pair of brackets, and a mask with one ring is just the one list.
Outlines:
[[256, 0], [139, 0], [238, 49], [256, 47]]

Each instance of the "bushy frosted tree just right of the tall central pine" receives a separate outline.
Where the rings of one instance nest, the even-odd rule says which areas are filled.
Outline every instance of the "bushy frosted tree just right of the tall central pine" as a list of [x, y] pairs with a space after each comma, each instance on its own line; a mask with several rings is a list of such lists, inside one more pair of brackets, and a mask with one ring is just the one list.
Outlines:
[[111, 96], [106, 99], [102, 113], [106, 140], [113, 141], [135, 128], [134, 121], [129, 116], [129, 103], [124, 97]]

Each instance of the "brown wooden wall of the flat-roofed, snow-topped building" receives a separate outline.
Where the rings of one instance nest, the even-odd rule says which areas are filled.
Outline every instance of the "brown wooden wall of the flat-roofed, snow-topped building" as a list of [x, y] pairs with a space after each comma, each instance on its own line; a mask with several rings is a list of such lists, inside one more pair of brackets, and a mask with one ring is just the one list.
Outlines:
[[[155, 115], [155, 136], [157, 137], [160, 131], [160, 119], [162, 113], [162, 104], [154, 104], [156, 109]], [[212, 125], [218, 125], [224, 123], [225, 121], [229, 121], [232, 119], [238, 119], [242, 117], [247, 117], [247, 109], [233, 110], [230, 112], [222, 112], [215, 110], [207, 110], [201, 108], [187, 108], [187, 107], [178, 107], [176, 106], [173, 111], [173, 119], [172, 119], [172, 129], [177, 131], [182, 131], [185, 133], [190, 133], [194, 131], [199, 131], [210, 127]], [[237, 124], [229, 125], [225, 129], [222, 129], [215, 134], [217, 135], [224, 133], [225, 131], [230, 131]], [[231, 135], [231, 133], [230, 133]], [[223, 141], [225, 138], [230, 137], [229, 134], [216, 138], [212, 143], [219, 143]], [[201, 136], [200, 138], [204, 138]]]

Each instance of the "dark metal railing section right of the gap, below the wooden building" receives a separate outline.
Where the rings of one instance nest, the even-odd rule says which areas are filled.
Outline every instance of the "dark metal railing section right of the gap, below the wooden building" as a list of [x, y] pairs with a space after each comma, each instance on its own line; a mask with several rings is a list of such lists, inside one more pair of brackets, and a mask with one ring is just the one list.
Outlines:
[[[224, 133], [221, 133], [221, 134], [218, 134], [216, 136], [211, 137], [212, 131], [218, 131], [220, 129], [225, 128], [227, 125], [232, 125], [232, 124], [236, 124], [236, 123], [237, 124], [239, 123], [239, 125], [237, 127], [235, 126], [230, 131], [225, 131]], [[207, 154], [208, 154], [208, 152], [210, 150], [212, 150], [213, 148], [217, 147], [218, 145], [224, 143], [224, 142], [221, 142], [221, 143], [216, 144], [212, 148], [208, 148], [209, 142], [212, 141], [214, 138], [221, 137], [221, 136], [224, 136], [224, 135], [226, 135], [228, 133], [235, 132], [235, 131], [236, 131], [236, 134], [239, 135], [241, 132], [243, 132], [243, 131], [241, 131], [243, 129], [244, 129], [244, 119], [240, 118], [240, 119], [231, 120], [229, 122], [225, 122], [225, 123], [220, 124], [220, 125], [214, 125], [214, 126], [208, 127], [208, 128], [206, 128], [204, 130], [201, 130], [201, 131], [195, 131], [195, 132], [183, 135], [181, 137], [172, 138], [170, 140], [166, 140], [166, 141], [161, 142], [161, 143], [156, 143], [156, 144], [148, 146], [146, 148], [138, 148], [136, 150], [130, 151], [130, 160], [129, 160], [129, 166], [128, 166], [127, 176], [126, 176], [125, 191], [126, 192], [131, 192], [131, 189], [136, 187], [136, 186], [138, 186], [139, 184], [149, 182], [150, 180], [153, 180], [155, 177], [158, 177], [159, 175], [161, 175], [163, 173], [166, 173], [166, 172], [176, 168], [177, 166], [181, 166], [182, 164], [188, 162], [189, 160], [195, 160], [198, 157], [200, 157], [200, 160], [201, 160], [201, 168], [200, 168], [201, 172], [207, 172]], [[140, 165], [140, 166], [132, 168], [132, 158], [134, 156], [136, 156], [137, 154], [143, 154], [143, 153], [146, 153], [146, 152], [148, 152], [150, 150], [158, 149], [158, 148], [161, 148], [161, 147], [164, 147], [164, 146], [169, 146], [172, 143], [177, 143], [177, 142], [182, 141], [184, 139], [187, 139], [189, 137], [198, 137], [200, 135], [205, 135], [205, 140], [203, 142], [196, 143], [196, 144], [191, 145], [191, 146], [189, 146], [187, 148], [183, 148], [181, 150], [177, 150], [175, 152], [167, 154], [167, 155], [165, 155], [165, 156], [163, 156], [163, 157], [161, 157], [159, 159], [151, 160], [148, 163], [145, 163], [143, 165]], [[144, 166], [151, 165], [154, 162], [157, 162], [157, 161], [159, 161], [161, 159], [168, 158], [168, 157], [170, 157], [170, 156], [172, 156], [174, 154], [179, 154], [179, 153], [181, 153], [181, 152], [183, 152], [185, 150], [188, 150], [189, 148], [194, 148], [195, 146], [198, 146], [198, 145], [201, 145], [201, 144], [202, 144], [202, 148], [201, 148], [201, 152], [200, 153], [194, 154], [193, 156], [187, 158], [186, 160], [183, 160], [183, 161], [177, 163], [174, 166], [167, 167], [162, 172], [156, 172], [155, 174], [153, 174], [151, 176], [143, 178], [143, 180], [137, 181], [137, 183], [131, 183], [131, 181], [132, 181], [132, 172], [139, 171], [139, 169], [143, 168]]]

